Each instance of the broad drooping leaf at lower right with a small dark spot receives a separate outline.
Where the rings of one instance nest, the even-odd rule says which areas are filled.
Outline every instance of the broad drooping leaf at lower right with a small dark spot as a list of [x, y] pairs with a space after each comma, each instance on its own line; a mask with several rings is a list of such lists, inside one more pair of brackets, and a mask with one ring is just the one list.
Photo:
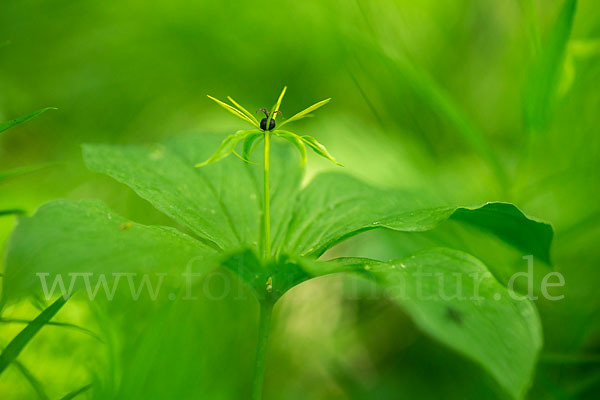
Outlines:
[[337, 265], [327, 272], [374, 280], [424, 333], [480, 364], [513, 398], [524, 397], [542, 347], [539, 316], [531, 301], [509, 293], [478, 259], [436, 248], [389, 263], [331, 264]]

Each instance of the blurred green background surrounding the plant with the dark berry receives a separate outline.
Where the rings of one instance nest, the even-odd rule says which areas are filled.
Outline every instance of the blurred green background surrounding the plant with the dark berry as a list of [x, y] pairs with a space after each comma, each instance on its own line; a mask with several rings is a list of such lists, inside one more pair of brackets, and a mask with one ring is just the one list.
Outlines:
[[[2, 181], [0, 208], [31, 213], [53, 198], [93, 197], [133, 220], [169, 224], [129, 189], [86, 171], [81, 143], [239, 129], [206, 94], [254, 110], [287, 85], [285, 117], [332, 97], [297, 130], [318, 137], [348, 172], [456, 204], [510, 201], [553, 224], [565, 299], [537, 303], [545, 348], [529, 396], [600, 393], [597, 1], [3, 1], [3, 41], [0, 121], [58, 110], [0, 136], [0, 170], [53, 163]], [[308, 174], [323, 168], [313, 157]], [[15, 223], [0, 219], [2, 247]], [[399, 257], [453, 244], [456, 229], [373, 233], [339, 251]], [[89, 382], [82, 397], [245, 398], [257, 308], [242, 297], [193, 307], [75, 299], [57, 320], [101, 340], [46, 327], [20, 360], [53, 399]], [[4, 316], [36, 313], [33, 302]], [[20, 328], [1, 323], [0, 345]], [[504, 396], [354, 278], [294, 289], [276, 309], [271, 343], [267, 399]], [[0, 398], [35, 396], [17, 366], [0, 377]]]

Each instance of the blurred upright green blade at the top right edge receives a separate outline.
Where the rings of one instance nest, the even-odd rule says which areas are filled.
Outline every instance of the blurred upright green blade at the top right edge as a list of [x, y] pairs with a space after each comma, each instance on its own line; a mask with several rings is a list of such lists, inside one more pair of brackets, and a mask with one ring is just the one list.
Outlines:
[[544, 129], [552, 115], [565, 59], [577, 0], [565, 0], [542, 49], [534, 58], [525, 86], [525, 122], [530, 129]]

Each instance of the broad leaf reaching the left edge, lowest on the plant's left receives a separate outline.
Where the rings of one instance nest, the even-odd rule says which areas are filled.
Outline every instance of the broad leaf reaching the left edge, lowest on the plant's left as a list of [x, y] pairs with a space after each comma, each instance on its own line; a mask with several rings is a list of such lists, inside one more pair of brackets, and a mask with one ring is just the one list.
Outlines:
[[57, 277], [67, 293], [84, 287], [85, 279], [72, 279], [73, 273], [104, 273], [108, 281], [112, 273], [184, 271], [190, 260], [212, 254], [214, 250], [173, 228], [133, 223], [99, 201], [57, 200], [23, 217], [15, 228], [3, 295], [40, 293], [45, 291], [42, 280], [50, 292]]

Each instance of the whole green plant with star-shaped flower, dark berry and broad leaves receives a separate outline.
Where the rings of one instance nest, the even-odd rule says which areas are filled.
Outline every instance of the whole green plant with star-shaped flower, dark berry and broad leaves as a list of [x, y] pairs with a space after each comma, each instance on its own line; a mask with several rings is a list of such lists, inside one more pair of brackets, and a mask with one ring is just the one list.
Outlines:
[[[285, 89], [265, 127], [276, 117], [284, 93]], [[237, 132], [224, 141], [204, 134], [155, 146], [83, 147], [90, 169], [128, 185], [189, 234], [131, 222], [99, 201], [50, 202], [33, 217], [22, 218], [11, 237], [4, 297], [14, 300], [39, 292], [36, 273], [106, 274], [124, 268], [176, 273], [191, 259], [204, 261], [203, 272], [223, 266], [251, 288], [259, 303], [251, 393], [253, 399], [260, 399], [271, 313], [277, 301], [307, 280], [333, 273], [357, 274], [380, 286], [427, 335], [480, 365], [506, 394], [523, 397], [542, 334], [534, 304], [515, 298], [502, 283], [502, 277], [518, 271], [514, 266], [486, 266], [463, 251], [438, 247], [393, 261], [320, 257], [367, 230], [422, 232], [453, 220], [492, 234], [521, 254], [549, 262], [552, 228], [511, 204], [441, 204], [420, 192], [376, 188], [340, 172], [321, 173], [302, 187], [304, 145], [335, 159], [314, 138], [280, 129], [261, 130], [249, 112], [230, 101], [237, 108], [217, 102], [258, 129]], [[271, 148], [271, 133], [292, 142], [300, 157], [288, 147]], [[257, 171], [252, 150], [261, 139], [263, 168]], [[239, 155], [235, 147], [242, 141], [244, 162], [225, 159]], [[199, 164], [203, 168], [193, 168], [203, 159], [207, 160]], [[465, 279], [458, 282], [456, 275]], [[78, 281], [72, 283], [73, 290], [82, 287]], [[444, 293], [456, 290], [464, 298], [445, 298]]]

